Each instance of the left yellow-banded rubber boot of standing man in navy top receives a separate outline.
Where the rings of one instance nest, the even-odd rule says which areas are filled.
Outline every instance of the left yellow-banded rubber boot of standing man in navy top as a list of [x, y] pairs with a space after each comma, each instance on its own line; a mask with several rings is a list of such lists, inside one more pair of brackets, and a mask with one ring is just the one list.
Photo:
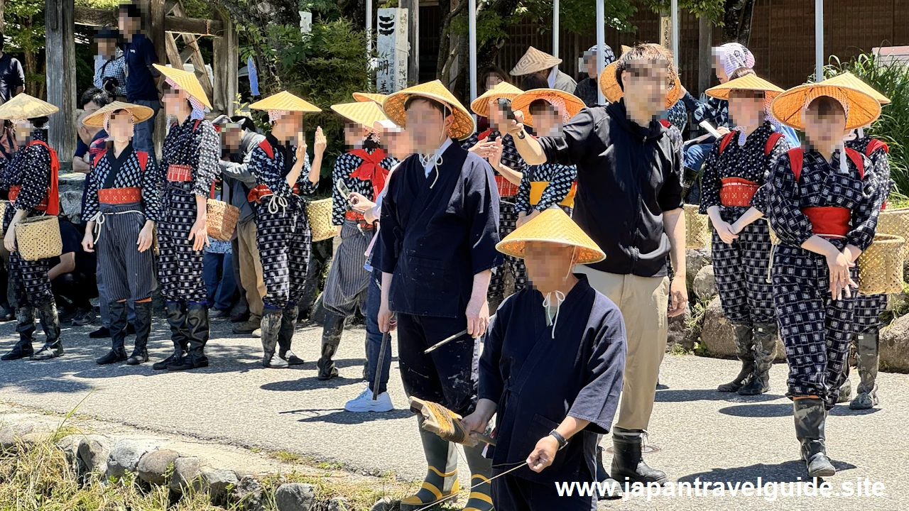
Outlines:
[[[446, 496], [461, 490], [457, 480], [457, 447], [443, 440], [435, 433], [423, 429], [423, 418], [417, 419], [420, 425], [420, 439], [423, 441], [423, 453], [426, 456], [426, 478], [423, 487], [415, 495], [401, 501], [401, 511], [416, 511], [430, 506]], [[446, 503], [454, 503], [454, 496]]]

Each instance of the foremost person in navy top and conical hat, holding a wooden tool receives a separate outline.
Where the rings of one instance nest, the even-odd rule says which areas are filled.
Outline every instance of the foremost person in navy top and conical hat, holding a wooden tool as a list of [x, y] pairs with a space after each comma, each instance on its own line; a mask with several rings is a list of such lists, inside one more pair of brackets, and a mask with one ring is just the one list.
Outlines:
[[555, 206], [496, 248], [524, 258], [531, 286], [495, 314], [479, 401], [464, 427], [484, 432], [495, 415], [494, 475], [526, 465], [494, 479], [495, 509], [589, 511], [594, 496], [559, 496], [555, 483], [596, 480], [599, 436], [612, 427], [622, 392], [622, 313], [572, 271], [605, 255]]

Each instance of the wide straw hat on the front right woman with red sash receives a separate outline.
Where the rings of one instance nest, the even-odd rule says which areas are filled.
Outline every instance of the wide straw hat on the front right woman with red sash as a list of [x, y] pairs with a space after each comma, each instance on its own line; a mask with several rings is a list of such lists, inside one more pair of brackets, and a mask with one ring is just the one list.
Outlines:
[[802, 112], [822, 95], [833, 97], [844, 106], [847, 130], [870, 125], [881, 115], [881, 104], [872, 95], [841, 85], [824, 85], [823, 82], [798, 85], [787, 90], [774, 99], [770, 112], [784, 125], [804, 131]]

